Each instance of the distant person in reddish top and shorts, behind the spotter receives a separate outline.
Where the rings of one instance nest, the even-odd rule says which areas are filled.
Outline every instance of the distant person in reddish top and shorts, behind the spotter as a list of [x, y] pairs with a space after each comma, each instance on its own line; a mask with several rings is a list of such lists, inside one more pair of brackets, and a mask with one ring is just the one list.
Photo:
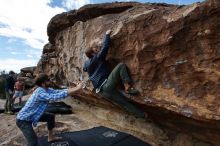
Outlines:
[[14, 86], [15, 93], [13, 96], [12, 107], [14, 107], [14, 102], [17, 97], [19, 98], [19, 105], [21, 105], [21, 98], [23, 96], [24, 88], [25, 88], [25, 84], [22, 78], [20, 77], [17, 78], [17, 82], [15, 82], [15, 86]]

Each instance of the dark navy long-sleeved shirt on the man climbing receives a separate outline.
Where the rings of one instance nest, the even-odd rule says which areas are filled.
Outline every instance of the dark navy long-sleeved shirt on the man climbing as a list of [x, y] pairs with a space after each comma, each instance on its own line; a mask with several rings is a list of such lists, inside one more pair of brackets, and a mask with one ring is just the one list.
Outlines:
[[110, 71], [107, 67], [106, 56], [110, 45], [110, 35], [106, 35], [103, 40], [101, 51], [92, 58], [86, 60], [83, 70], [88, 72], [89, 79], [92, 81], [94, 88], [99, 88], [108, 78]]

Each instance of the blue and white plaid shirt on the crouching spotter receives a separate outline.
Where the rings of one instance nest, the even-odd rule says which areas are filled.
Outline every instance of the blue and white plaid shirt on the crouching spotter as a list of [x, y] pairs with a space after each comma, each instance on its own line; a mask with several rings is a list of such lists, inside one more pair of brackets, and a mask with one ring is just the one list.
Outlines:
[[54, 90], [38, 87], [28, 99], [25, 106], [19, 111], [17, 119], [31, 121], [36, 126], [47, 108], [49, 101], [64, 99], [67, 95], [67, 89]]

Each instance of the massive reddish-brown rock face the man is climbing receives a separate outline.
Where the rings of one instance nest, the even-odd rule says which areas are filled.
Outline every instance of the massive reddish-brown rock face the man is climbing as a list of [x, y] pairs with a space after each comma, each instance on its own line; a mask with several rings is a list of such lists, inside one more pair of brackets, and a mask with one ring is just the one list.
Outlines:
[[[220, 144], [220, 2], [187, 6], [109, 3], [59, 14], [48, 24], [49, 43], [35, 73], [79, 81], [85, 49], [112, 29], [108, 60], [128, 65], [141, 91], [131, 100], [162, 127]], [[88, 86], [77, 95], [114, 106]], [[114, 107], [115, 108], [115, 107]]]

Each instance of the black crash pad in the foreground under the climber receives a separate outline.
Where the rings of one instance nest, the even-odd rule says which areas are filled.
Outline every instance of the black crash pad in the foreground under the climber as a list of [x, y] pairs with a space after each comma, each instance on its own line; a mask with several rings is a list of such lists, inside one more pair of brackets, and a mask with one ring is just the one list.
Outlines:
[[58, 134], [62, 140], [47, 142], [47, 137], [38, 139], [39, 146], [150, 146], [142, 140], [107, 127], [95, 127], [83, 131]]

